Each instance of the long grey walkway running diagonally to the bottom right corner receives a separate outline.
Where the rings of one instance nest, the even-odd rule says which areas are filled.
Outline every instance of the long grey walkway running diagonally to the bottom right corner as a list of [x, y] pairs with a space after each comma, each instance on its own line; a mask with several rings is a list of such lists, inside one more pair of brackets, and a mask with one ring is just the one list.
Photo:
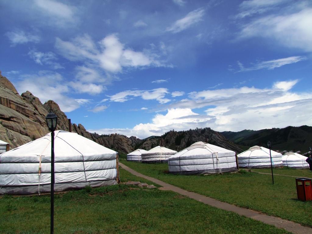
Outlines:
[[176, 186], [167, 184], [158, 179], [138, 173], [120, 162], [119, 162], [119, 165], [123, 169], [127, 170], [128, 172], [132, 173], [135, 176], [142, 177], [144, 179], [150, 180], [156, 184], [163, 186], [162, 188], [159, 188], [160, 190], [172, 190], [176, 193], [180, 193], [181, 195], [188, 196], [190, 198], [193, 198], [199, 202], [208, 204], [210, 206], [217, 207], [217, 208], [227, 210], [227, 211], [232, 211], [239, 215], [244, 215], [248, 218], [252, 218], [252, 219], [267, 223], [267, 224], [274, 225], [275, 227], [278, 227], [278, 228], [284, 228], [288, 232], [292, 232], [295, 234], [312, 234], [312, 228], [310, 227], [303, 227], [298, 223], [294, 223], [288, 220], [283, 220], [283, 219], [273, 217], [273, 216], [268, 216], [268, 215], [262, 214], [261, 212], [256, 212], [256, 211], [248, 210], [245, 208], [236, 207], [234, 205], [231, 205], [225, 202], [220, 202], [218, 200], [200, 195], [198, 193], [188, 192], [182, 188], [178, 188]]

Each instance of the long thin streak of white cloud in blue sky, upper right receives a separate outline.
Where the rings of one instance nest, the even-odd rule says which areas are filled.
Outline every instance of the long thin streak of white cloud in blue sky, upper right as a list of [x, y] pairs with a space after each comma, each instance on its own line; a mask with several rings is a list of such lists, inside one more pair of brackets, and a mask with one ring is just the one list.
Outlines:
[[292, 56], [288, 58], [281, 58], [281, 59], [275, 59], [275, 60], [270, 60], [270, 61], [263, 61], [263, 62], [258, 62], [254, 66], [245, 68], [243, 64], [239, 61], [237, 61], [238, 66], [240, 67], [239, 71], [254, 71], [254, 70], [259, 70], [259, 69], [268, 69], [268, 70], [273, 70], [276, 67], [281, 67], [287, 64], [292, 64], [296, 63], [299, 61], [307, 60], [308, 58], [306, 56]]

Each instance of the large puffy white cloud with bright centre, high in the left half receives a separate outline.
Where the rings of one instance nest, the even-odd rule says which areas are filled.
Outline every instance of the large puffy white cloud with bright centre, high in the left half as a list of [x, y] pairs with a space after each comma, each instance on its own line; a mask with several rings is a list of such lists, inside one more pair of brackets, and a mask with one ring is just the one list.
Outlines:
[[118, 73], [122, 67], [164, 66], [147, 50], [136, 52], [125, 49], [116, 34], [105, 37], [98, 42], [98, 46], [100, 49], [87, 34], [71, 42], [56, 38], [55, 43], [56, 49], [68, 60], [91, 63], [105, 72]]

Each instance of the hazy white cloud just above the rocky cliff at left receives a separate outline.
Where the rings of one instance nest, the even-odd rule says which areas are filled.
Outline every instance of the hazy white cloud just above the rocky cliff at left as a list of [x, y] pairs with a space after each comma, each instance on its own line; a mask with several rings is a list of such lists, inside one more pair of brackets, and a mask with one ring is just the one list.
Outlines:
[[77, 101], [65, 95], [68, 94], [69, 88], [64, 84], [59, 73], [40, 71], [38, 74], [23, 75], [21, 78], [23, 80], [15, 85], [19, 93], [29, 90], [42, 103], [53, 100], [64, 112], [70, 112], [80, 107], [81, 100]]

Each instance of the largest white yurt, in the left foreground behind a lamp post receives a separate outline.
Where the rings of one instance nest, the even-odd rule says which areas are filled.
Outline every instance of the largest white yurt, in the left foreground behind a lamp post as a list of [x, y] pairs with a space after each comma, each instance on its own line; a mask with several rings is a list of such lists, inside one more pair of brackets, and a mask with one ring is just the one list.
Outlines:
[[[58, 130], [54, 155], [55, 192], [117, 184], [114, 150]], [[0, 155], [0, 194], [39, 192], [51, 192], [51, 133]]]

